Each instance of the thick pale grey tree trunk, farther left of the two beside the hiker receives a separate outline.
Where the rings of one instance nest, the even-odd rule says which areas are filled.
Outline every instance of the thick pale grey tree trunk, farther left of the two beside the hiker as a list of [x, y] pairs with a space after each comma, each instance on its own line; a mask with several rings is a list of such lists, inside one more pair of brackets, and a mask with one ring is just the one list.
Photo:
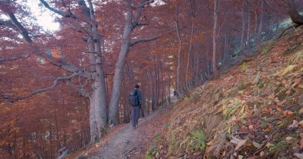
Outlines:
[[[90, 10], [90, 18], [91, 20], [95, 20], [94, 8], [91, 0], [88, 0], [89, 10]], [[91, 29], [93, 36], [89, 38], [88, 41], [88, 49], [89, 51], [93, 51], [96, 53], [94, 57], [94, 64], [96, 70], [96, 78], [92, 84], [92, 94], [90, 96], [90, 124], [91, 126], [91, 141], [90, 143], [95, 143], [108, 131], [107, 126], [107, 111], [106, 111], [106, 91], [105, 91], [105, 79], [103, 72], [103, 60], [101, 59], [101, 44], [98, 35], [97, 24], [92, 23]], [[92, 57], [90, 57], [92, 60]], [[91, 61], [92, 63], [92, 61]], [[93, 109], [93, 110], [92, 110]], [[91, 117], [92, 115], [92, 117]], [[97, 132], [96, 132], [97, 128]]]

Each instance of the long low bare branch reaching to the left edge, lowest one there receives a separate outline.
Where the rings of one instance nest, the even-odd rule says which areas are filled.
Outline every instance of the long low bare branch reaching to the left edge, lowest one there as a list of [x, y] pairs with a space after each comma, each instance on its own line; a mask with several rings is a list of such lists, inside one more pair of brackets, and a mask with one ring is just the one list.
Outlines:
[[73, 73], [72, 75], [67, 76], [67, 77], [59, 77], [59, 78], [57, 78], [57, 79], [53, 82], [53, 84], [52, 84], [51, 86], [49, 86], [49, 87], [47, 87], [47, 88], [43, 88], [43, 89], [39, 89], [39, 90], [33, 91], [32, 93], [27, 94], [27, 95], [22, 95], [22, 96], [19, 96], [19, 97], [16, 97], [16, 98], [12, 98], [12, 97], [10, 97], [10, 95], [8, 95], [8, 94], [0, 94], [0, 98], [7, 99], [7, 100], [10, 101], [10, 102], [15, 102], [15, 101], [17, 101], [17, 100], [26, 99], [26, 98], [29, 98], [29, 97], [31, 97], [31, 96], [37, 94], [37, 93], [41, 93], [41, 92], [44, 92], [44, 91], [46, 91], [46, 90], [49, 90], [49, 89], [54, 88], [54, 87], [58, 84], [59, 81], [69, 80], [69, 79], [72, 79], [72, 78], [74, 78], [74, 77], [76, 77], [76, 76], [79, 76], [78, 73]]

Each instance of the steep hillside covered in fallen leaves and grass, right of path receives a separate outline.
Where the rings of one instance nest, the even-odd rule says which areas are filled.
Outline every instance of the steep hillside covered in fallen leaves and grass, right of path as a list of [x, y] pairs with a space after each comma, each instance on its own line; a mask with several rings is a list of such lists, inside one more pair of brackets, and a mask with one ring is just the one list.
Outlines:
[[268, 41], [178, 101], [147, 159], [303, 159], [302, 42]]

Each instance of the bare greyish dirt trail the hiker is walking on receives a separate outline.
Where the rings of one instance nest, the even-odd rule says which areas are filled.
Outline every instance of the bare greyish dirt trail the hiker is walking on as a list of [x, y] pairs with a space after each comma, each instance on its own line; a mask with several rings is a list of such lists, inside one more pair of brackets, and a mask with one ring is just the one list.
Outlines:
[[[174, 100], [172, 102], [174, 102]], [[132, 128], [131, 123], [127, 124], [125, 128], [114, 135], [110, 141], [99, 150], [100, 153], [97, 156], [93, 156], [90, 159], [131, 159], [128, 153], [138, 151], [137, 148], [142, 146], [142, 140], [140, 140], [139, 137], [141, 136], [140, 132], [145, 131], [151, 121], [154, 120], [159, 113], [167, 111], [171, 105], [158, 108], [145, 118], [140, 118], [139, 125], [136, 129]], [[146, 152], [140, 152], [140, 154], [142, 153]]]

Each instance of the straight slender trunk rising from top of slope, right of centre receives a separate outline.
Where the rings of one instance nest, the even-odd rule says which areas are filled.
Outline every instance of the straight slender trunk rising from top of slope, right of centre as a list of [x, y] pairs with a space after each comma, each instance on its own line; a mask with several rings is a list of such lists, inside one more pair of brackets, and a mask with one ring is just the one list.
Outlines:
[[213, 67], [213, 72], [215, 74], [215, 76], [218, 76], [218, 70], [217, 70], [217, 31], [219, 29], [219, 5], [220, 5], [220, 0], [215, 0], [214, 3], [214, 29], [213, 29], [213, 45], [212, 45], [212, 49], [213, 49], [213, 53], [212, 53], [212, 67]]

